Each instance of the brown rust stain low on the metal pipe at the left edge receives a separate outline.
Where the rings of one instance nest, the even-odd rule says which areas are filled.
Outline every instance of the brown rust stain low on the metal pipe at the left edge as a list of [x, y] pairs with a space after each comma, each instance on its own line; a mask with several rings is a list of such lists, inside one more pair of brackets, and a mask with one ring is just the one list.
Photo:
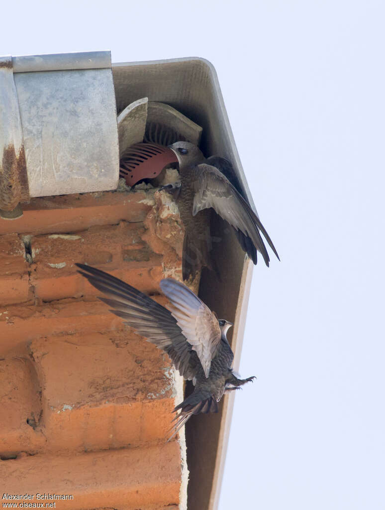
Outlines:
[[14, 145], [9, 144], [3, 150], [0, 166], [0, 209], [12, 211], [20, 201], [29, 198], [24, 146], [16, 155]]

